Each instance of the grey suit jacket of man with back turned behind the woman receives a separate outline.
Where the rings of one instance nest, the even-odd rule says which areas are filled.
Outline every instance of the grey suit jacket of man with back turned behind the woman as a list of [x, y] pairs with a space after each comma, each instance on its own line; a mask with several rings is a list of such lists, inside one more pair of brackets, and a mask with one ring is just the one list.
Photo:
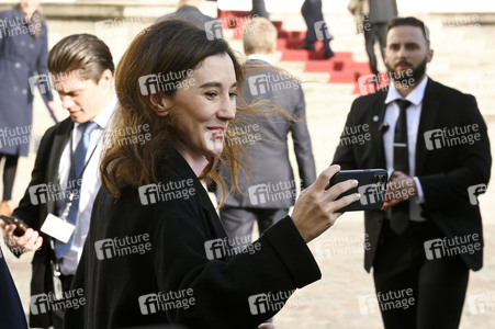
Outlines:
[[[236, 116], [239, 121], [236, 124], [230, 124], [229, 129], [237, 125], [239, 132], [245, 135], [251, 135], [254, 139], [250, 143], [247, 141], [248, 139], [240, 137], [240, 139], [230, 140], [230, 143], [234, 145], [241, 144], [245, 147], [250, 172], [245, 174], [243, 171], [239, 174], [240, 189], [244, 194], [234, 193], [229, 195], [225, 205], [255, 208], [289, 208], [294, 205], [296, 186], [301, 185], [305, 189], [316, 180], [315, 160], [306, 125], [304, 93], [297, 80], [285, 72], [277, 71], [266, 61], [248, 60], [244, 68], [247, 75], [243, 84], [243, 95], [248, 104], [254, 102], [273, 102], [279, 106], [279, 110], [295, 116], [297, 121], [291, 122], [288, 117], [280, 114], [248, 115], [237, 112]], [[256, 84], [257, 76], [270, 76], [270, 81], [272, 82], [266, 83], [266, 89], [256, 90], [259, 87]], [[275, 84], [280, 88], [275, 89]], [[251, 90], [252, 88], [255, 89]], [[269, 104], [262, 109], [267, 110], [267, 113], [269, 113], [269, 110], [273, 110]], [[302, 180], [301, 184], [300, 182], [294, 182], [294, 173], [289, 161], [289, 134], [291, 134], [294, 143], [294, 154]], [[232, 136], [227, 134], [227, 137]], [[221, 167], [220, 174], [229, 188], [232, 183], [227, 166]], [[283, 183], [282, 189], [278, 188], [280, 182]], [[292, 193], [292, 196], [285, 194], [284, 197], [267, 197], [268, 202], [266, 203], [252, 203], [248, 189], [258, 184], [268, 185], [269, 183], [273, 186], [270, 190], [273, 193], [292, 193], [292, 191], [294, 193]], [[216, 195], [221, 197], [221, 191], [217, 190]]]

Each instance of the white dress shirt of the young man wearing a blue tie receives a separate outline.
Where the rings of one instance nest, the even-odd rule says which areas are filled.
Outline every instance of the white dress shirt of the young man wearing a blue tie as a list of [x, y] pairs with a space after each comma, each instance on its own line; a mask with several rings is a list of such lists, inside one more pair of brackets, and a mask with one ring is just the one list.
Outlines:
[[[91, 211], [93, 207], [94, 198], [101, 186], [100, 178], [100, 160], [102, 156], [102, 137], [105, 127], [110, 126], [112, 114], [116, 107], [117, 99], [114, 97], [112, 101], [103, 107], [103, 110], [92, 120], [98, 124], [98, 127], [91, 132], [90, 144], [88, 152], [86, 154], [87, 167], [82, 174], [81, 190], [79, 193], [79, 212], [77, 216], [76, 229], [74, 230], [74, 242], [70, 247], [70, 251], [61, 259], [60, 272], [64, 275], [72, 275], [76, 273], [77, 264], [81, 258], [82, 247], [88, 236], [89, 224], [91, 219]], [[82, 132], [78, 129], [80, 124], [75, 123], [71, 133], [72, 151], [76, 151], [76, 147], [82, 137]], [[69, 171], [70, 171], [70, 140], [61, 154], [60, 164], [58, 167], [58, 181], [60, 186], [67, 188]], [[91, 157], [91, 154], [93, 152]], [[91, 158], [90, 158], [91, 157]], [[89, 160], [89, 162], [88, 162]], [[64, 208], [59, 209], [58, 216], [61, 216]]]

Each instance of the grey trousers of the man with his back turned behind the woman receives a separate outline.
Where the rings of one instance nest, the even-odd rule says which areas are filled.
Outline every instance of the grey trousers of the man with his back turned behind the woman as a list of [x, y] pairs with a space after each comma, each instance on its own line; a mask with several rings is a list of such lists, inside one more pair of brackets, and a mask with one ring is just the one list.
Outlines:
[[230, 239], [239, 238], [243, 247], [249, 245], [252, 225], [258, 222], [259, 235], [283, 219], [289, 213], [285, 208], [238, 208], [225, 206], [220, 211], [220, 219]]

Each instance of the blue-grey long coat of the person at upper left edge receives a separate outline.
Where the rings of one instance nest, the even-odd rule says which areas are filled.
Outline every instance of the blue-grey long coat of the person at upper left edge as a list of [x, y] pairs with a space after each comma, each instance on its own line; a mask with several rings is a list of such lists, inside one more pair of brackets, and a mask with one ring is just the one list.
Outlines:
[[41, 29], [40, 36], [27, 33], [25, 19], [16, 8], [0, 12], [0, 129], [9, 128], [3, 134], [7, 136], [0, 136], [0, 152], [27, 156], [36, 86], [47, 106], [53, 100], [49, 84], [30, 80], [36, 75], [48, 79], [48, 32], [41, 20], [36, 27]]

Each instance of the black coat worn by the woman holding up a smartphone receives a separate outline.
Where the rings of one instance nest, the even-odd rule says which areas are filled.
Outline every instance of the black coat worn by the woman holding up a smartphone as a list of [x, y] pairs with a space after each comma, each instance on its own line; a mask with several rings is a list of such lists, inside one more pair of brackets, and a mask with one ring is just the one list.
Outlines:
[[[184, 195], [182, 186], [185, 186], [188, 197], [155, 195], [154, 201], [146, 198], [144, 205], [139, 197], [143, 194], [136, 188], [121, 189], [119, 200], [100, 190], [71, 287], [83, 288], [86, 305], [67, 310], [65, 328], [154, 324], [203, 329], [256, 328], [277, 311], [252, 315], [249, 296], [291, 292], [320, 277], [310, 249], [289, 216], [265, 232], [256, 251], [232, 256], [224, 243], [228, 252], [223, 249], [216, 257], [209, 257], [209, 241], [226, 239], [227, 235], [206, 191], [177, 151], [171, 150], [158, 163], [161, 168], [155, 183], [173, 183], [176, 188], [166, 190], [175, 195]], [[136, 240], [145, 235], [150, 243], [148, 251], [125, 254], [114, 248], [110, 254], [101, 254], [101, 241], [105, 239], [117, 239], [122, 250], [123, 238]], [[143, 313], [139, 307], [139, 296], [170, 292], [181, 296], [180, 292], [189, 288], [194, 298], [189, 308], [157, 311], [154, 305], [153, 310]], [[182, 298], [169, 298], [178, 299]]]

